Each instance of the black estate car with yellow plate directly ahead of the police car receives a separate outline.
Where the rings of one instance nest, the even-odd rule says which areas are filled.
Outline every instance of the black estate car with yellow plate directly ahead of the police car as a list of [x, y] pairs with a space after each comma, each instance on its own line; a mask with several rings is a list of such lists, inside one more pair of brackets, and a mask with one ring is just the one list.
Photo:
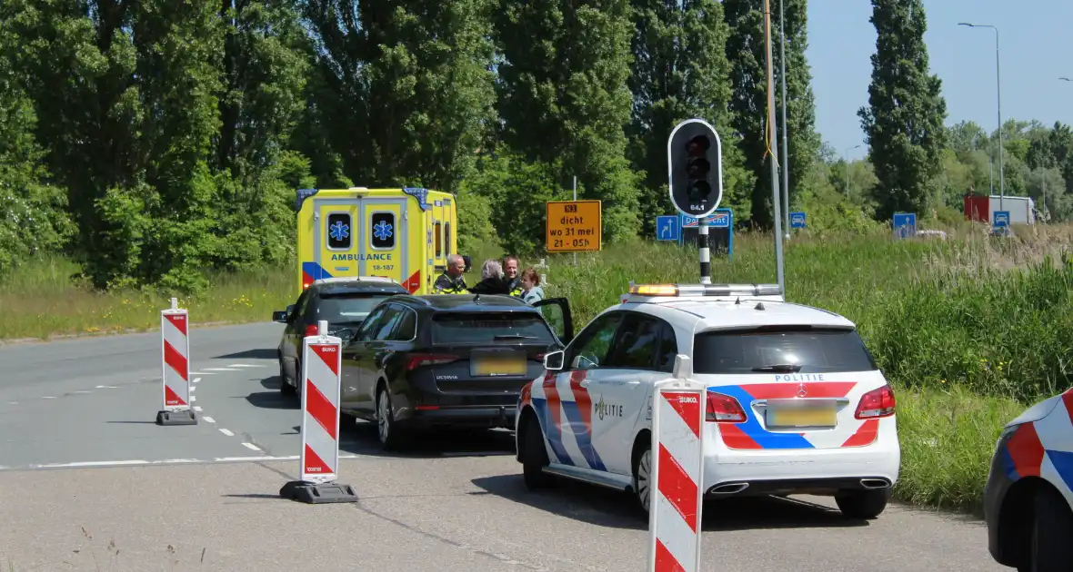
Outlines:
[[521, 387], [572, 329], [563, 298], [396, 296], [343, 344], [340, 411], [376, 421], [385, 449], [421, 430], [514, 428]]

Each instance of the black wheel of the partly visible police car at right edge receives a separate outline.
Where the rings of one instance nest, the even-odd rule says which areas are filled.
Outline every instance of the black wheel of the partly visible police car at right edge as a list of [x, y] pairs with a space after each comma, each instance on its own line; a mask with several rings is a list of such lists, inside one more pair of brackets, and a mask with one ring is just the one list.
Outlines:
[[1018, 570], [1052, 572], [1073, 570], [1073, 511], [1069, 502], [1054, 488], [1041, 486], [1033, 499], [1031, 544], [1027, 567]]

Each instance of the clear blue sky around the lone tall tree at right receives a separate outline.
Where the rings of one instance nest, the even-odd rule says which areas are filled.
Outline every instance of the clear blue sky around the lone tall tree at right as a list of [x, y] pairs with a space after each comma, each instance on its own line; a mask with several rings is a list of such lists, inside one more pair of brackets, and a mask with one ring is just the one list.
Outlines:
[[[778, 0], [771, 10], [778, 10]], [[815, 94], [817, 130], [839, 155], [864, 144], [856, 110], [868, 105], [876, 29], [869, 0], [808, 0], [807, 51]], [[1073, 0], [924, 0], [930, 72], [942, 79], [946, 124], [998, 125], [995, 30], [999, 28], [1002, 120], [1073, 122]], [[778, 97], [778, 94], [776, 94]], [[849, 152], [865, 156], [867, 148]]]

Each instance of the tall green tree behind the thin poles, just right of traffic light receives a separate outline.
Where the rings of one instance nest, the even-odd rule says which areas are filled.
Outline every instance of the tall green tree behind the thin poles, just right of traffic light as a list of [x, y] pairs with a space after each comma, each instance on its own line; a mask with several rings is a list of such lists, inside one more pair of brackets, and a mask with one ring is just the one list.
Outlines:
[[[789, 129], [790, 200], [800, 194], [806, 175], [819, 157], [820, 137], [815, 133], [815, 101], [805, 51], [808, 48], [807, 0], [770, 0], [771, 10], [771, 65], [776, 80], [776, 105], [779, 96], [779, 2], [785, 21], [787, 70], [787, 122]], [[750, 220], [760, 228], [770, 228], [774, 213], [771, 205], [771, 177], [768, 165], [767, 141], [767, 67], [764, 43], [763, 0], [723, 0], [723, 13], [730, 26], [726, 55], [731, 62], [733, 95], [731, 110], [738, 132], [738, 146], [745, 155], [745, 167], [753, 176]], [[781, 123], [781, 111], [776, 108], [776, 120]], [[781, 146], [781, 131], [779, 145]], [[781, 162], [780, 156], [777, 161]], [[779, 179], [781, 189], [781, 175]], [[782, 206], [785, 209], [785, 205]]]

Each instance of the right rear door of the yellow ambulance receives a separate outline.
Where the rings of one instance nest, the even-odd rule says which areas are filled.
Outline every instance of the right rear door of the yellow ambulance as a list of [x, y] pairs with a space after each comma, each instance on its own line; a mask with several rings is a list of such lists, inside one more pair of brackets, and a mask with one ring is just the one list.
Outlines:
[[[413, 292], [420, 286], [410, 269], [407, 229], [410, 227], [405, 198], [366, 197], [362, 200], [365, 226], [359, 245], [363, 276], [391, 279]], [[414, 223], [420, 224], [415, 221]], [[420, 265], [415, 265], [418, 266]], [[414, 282], [411, 284], [411, 282]]]

